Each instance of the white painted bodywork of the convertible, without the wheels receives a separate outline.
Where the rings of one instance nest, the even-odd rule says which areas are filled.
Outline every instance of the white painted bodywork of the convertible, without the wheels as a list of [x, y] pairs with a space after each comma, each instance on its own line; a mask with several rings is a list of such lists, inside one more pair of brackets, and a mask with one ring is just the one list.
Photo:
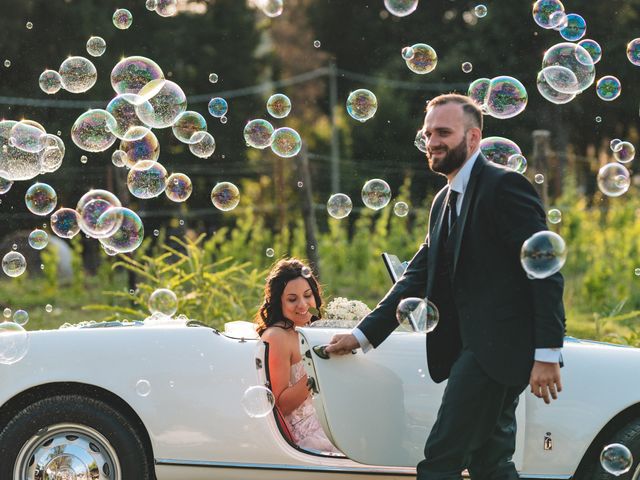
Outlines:
[[[244, 392], [266, 382], [265, 347], [250, 329], [234, 338], [176, 321], [31, 332], [27, 355], [0, 365], [0, 419], [29, 392], [90, 389], [139, 417], [158, 480], [410, 478], [445, 385], [429, 378], [424, 334], [395, 332], [367, 354], [312, 352], [339, 331], [299, 329], [318, 416], [348, 458], [305, 453], [284, 438], [275, 415], [246, 414]], [[569, 339], [563, 357], [559, 400], [521, 397], [514, 461], [523, 478], [572, 477], [599, 432], [640, 403], [632, 381], [640, 350]], [[143, 379], [146, 396], [136, 389]]]

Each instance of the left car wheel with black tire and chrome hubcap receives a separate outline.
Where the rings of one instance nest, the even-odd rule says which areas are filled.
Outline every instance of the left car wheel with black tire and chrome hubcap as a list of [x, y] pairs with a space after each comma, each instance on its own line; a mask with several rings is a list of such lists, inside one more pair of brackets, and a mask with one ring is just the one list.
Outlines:
[[21, 410], [0, 432], [0, 478], [151, 480], [151, 462], [127, 417], [82, 395]]

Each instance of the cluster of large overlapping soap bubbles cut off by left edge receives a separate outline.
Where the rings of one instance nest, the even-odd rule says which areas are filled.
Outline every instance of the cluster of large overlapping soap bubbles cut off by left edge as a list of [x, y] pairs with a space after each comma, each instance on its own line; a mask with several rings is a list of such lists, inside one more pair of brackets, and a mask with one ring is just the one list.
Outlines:
[[[0, 121], [0, 177], [6, 181], [30, 180], [55, 172], [62, 165], [65, 145], [33, 120]], [[10, 187], [10, 185], [9, 185]]]

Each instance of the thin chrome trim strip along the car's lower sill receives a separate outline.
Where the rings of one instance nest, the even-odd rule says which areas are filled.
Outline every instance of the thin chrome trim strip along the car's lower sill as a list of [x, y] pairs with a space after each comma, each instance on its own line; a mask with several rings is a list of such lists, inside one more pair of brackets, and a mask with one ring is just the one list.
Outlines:
[[233, 462], [208, 462], [202, 460], [176, 460], [173, 458], [156, 458], [156, 465], [173, 467], [204, 467], [204, 468], [241, 468], [253, 470], [286, 470], [298, 472], [332, 472], [355, 473], [366, 475], [406, 475], [415, 477], [415, 468], [402, 467], [331, 467], [317, 465], [285, 465], [272, 463], [233, 463]]

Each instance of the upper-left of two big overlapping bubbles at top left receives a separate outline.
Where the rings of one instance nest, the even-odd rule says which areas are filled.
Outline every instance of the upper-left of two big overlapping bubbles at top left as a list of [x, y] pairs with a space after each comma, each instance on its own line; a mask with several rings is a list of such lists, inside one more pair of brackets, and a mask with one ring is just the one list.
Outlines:
[[152, 91], [146, 92], [147, 95], [153, 96], [162, 88], [163, 80], [164, 73], [160, 66], [146, 57], [123, 58], [111, 70], [111, 86], [116, 93], [120, 94], [138, 94], [142, 87], [153, 82]]

